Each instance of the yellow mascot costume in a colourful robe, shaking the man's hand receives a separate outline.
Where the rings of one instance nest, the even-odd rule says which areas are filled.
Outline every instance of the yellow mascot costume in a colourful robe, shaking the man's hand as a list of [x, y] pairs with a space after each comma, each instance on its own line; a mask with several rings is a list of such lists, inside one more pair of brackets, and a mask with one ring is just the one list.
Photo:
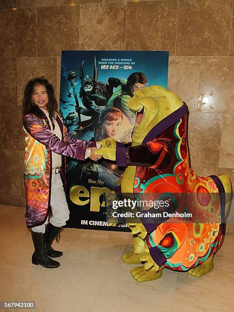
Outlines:
[[[139, 282], [158, 279], [164, 267], [200, 277], [213, 269], [213, 256], [222, 242], [231, 202], [230, 179], [201, 177], [190, 168], [188, 108], [176, 94], [160, 86], [147, 87], [135, 92], [128, 105], [137, 112], [132, 145], [116, 146], [109, 138], [96, 153], [127, 167], [122, 194], [133, 194], [135, 199], [139, 194], [152, 194], [155, 199], [166, 194], [173, 199], [176, 194], [171, 208], [181, 216], [192, 212], [193, 217], [157, 223], [147, 217], [154, 209], [138, 207], [141, 222], [127, 220], [134, 251], [123, 255], [123, 261], [145, 262], [131, 270]], [[183, 194], [191, 195], [187, 197], [191, 200], [180, 200]]]

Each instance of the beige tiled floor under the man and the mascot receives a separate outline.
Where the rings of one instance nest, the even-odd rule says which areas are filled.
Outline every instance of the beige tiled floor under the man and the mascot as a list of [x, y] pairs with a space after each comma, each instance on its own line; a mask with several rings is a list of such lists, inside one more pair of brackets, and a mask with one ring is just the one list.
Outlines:
[[137, 283], [121, 260], [130, 233], [66, 228], [56, 246], [61, 266], [45, 269], [31, 263], [24, 209], [0, 205], [0, 301], [32, 300], [39, 312], [233, 311], [233, 244], [226, 236], [206, 276], [164, 269], [159, 280]]

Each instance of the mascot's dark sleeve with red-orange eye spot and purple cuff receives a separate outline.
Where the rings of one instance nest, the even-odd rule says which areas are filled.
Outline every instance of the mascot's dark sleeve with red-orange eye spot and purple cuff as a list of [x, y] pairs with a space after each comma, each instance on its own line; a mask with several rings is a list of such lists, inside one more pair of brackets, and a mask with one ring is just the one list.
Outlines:
[[142, 166], [163, 168], [170, 164], [173, 149], [167, 142], [152, 140], [137, 146], [116, 147], [116, 164], [120, 167]]

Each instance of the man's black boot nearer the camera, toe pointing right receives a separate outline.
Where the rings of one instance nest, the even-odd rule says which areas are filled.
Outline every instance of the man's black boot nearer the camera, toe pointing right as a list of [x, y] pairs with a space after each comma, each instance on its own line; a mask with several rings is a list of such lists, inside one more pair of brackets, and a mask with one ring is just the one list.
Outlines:
[[35, 251], [32, 256], [32, 263], [35, 265], [41, 265], [45, 268], [57, 268], [60, 266], [60, 263], [52, 260], [46, 254], [46, 248], [44, 243], [44, 235], [43, 233], [34, 232], [31, 230], [32, 239]]

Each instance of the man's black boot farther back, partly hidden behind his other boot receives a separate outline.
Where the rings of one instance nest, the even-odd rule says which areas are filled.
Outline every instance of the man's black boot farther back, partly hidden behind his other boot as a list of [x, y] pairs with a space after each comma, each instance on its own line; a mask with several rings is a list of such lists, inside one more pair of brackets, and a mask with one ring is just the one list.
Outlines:
[[[54, 250], [51, 245], [56, 236], [60, 239], [60, 230], [62, 227], [57, 227], [49, 223], [45, 229], [44, 239], [45, 239], [45, 246], [46, 246], [46, 253], [51, 258], [61, 257], [63, 255], [62, 251]], [[59, 242], [59, 239], [56, 242]]]

